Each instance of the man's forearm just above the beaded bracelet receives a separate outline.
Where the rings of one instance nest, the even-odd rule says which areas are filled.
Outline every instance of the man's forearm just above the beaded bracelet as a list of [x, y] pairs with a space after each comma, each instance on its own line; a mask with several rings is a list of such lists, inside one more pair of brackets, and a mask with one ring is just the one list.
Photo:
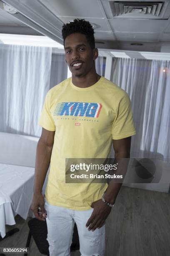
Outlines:
[[[118, 174], [118, 175], [123, 174], [123, 177], [125, 176], [125, 173], [128, 169], [128, 163], [129, 163], [128, 158], [130, 158], [130, 153], [128, 153], [128, 152], [115, 153], [114, 164], [117, 164], [117, 162], [119, 163], [117, 165], [117, 168], [119, 168], [119, 170], [118, 170], [118, 173], [116, 173], [116, 174]], [[125, 159], [124, 162], [123, 162], [123, 159]], [[113, 205], [115, 203], [116, 197], [117, 197], [121, 187], [122, 187], [122, 182], [116, 183], [116, 181], [114, 181], [114, 179], [112, 179], [112, 181], [109, 183], [109, 185], [107, 187], [107, 191], [106, 191], [106, 194], [104, 197], [105, 200]]]

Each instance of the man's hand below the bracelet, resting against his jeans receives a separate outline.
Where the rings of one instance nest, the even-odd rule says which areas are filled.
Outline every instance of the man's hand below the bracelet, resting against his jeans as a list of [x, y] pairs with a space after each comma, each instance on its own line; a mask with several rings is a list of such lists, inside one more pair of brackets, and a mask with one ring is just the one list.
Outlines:
[[104, 225], [112, 208], [106, 205], [101, 199], [93, 202], [91, 207], [94, 210], [87, 220], [86, 228], [89, 226], [88, 230], [94, 231], [96, 228], [101, 228]]

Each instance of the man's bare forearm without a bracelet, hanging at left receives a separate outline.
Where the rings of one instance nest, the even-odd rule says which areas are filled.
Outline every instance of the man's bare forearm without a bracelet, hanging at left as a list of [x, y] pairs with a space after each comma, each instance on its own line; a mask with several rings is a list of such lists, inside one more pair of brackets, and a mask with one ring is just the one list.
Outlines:
[[35, 161], [34, 194], [42, 192], [42, 186], [50, 165], [52, 147], [47, 146], [41, 140], [37, 143]]

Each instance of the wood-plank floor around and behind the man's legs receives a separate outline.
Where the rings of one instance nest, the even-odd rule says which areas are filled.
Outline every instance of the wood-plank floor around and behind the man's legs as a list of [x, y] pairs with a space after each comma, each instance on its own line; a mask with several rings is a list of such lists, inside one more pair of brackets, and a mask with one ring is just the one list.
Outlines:
[[[7, 230], [20, 231], [1, 241], [0, 247], [25, 247], [29, 218], [17, 215], [15, 220]], [[29, 256], [41, 255], [31, 240]], [[105, 256], [170, 256], [170, 194], [122, 187], [106, 222]]]

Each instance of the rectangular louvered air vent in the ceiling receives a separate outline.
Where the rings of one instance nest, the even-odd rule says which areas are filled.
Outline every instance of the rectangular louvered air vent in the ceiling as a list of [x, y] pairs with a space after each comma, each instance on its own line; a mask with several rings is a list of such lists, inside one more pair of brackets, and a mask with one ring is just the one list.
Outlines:
[[170, 16], [169, 1], [109, 1], [109, 4], [114, 18], [168, 19]]

